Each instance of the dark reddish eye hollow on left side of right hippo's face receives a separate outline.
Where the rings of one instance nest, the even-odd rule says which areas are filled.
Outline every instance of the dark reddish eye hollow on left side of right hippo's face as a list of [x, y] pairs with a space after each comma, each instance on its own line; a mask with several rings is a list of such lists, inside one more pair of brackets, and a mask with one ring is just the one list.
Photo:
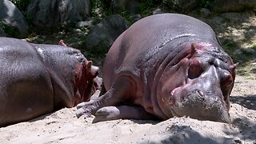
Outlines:
[[193, 60], [190, 62], [190, 68], [188, 71], [188, 78], [194, 79], [198, 78], [202, 74], [202, 64], [198, 60]]

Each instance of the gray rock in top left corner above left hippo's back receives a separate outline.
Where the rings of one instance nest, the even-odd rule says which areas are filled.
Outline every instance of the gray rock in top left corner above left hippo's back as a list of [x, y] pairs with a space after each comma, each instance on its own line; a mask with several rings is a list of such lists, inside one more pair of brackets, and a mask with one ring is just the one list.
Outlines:
[[15, 38], [26, 38], [29, 26], [22, 12], [8, 0], [0, 1], [0, 23], [6, 34]]

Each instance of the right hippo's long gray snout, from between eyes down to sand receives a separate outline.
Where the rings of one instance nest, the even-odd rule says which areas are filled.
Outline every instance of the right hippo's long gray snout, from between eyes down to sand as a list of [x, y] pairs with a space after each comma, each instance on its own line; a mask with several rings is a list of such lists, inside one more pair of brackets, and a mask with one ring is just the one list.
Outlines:
[[[202, 62], [199, 63], [202, 65]], [[181, 82], [182, 85], [171, 90], [170, 112], [176, 117], [190, 116], [199, 120], [230, 123], [229, 96], [234, 78], [228, 70], [207, 65], [206, 70], [202, 70], [197, 76], [191, 76], [187, 72], [187, 78]]]

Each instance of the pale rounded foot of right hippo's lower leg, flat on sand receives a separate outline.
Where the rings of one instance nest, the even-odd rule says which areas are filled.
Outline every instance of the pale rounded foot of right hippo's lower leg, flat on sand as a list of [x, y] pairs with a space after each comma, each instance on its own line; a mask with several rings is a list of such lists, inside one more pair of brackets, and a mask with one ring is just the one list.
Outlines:
[[120, 117], [120, 110], [116, 106], [106, 106], [97, 110], [93, 122], [116, 120]]

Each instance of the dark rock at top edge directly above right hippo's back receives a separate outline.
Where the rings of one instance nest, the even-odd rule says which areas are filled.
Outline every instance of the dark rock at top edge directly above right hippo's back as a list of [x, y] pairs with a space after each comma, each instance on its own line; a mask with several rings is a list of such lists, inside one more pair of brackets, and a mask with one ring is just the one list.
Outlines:
[[190, 11], [200, 6], [200, 0], [166, 0], [166, 5], [173, 10]]

